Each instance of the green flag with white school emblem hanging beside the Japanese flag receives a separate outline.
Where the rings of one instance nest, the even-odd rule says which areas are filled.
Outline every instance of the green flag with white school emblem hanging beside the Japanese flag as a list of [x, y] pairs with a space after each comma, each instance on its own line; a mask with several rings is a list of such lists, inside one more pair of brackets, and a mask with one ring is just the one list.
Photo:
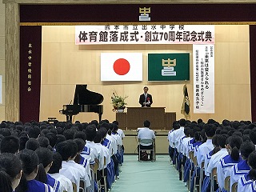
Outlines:
[[148, 54], [148, 81], [190, 80], [190, 54]]

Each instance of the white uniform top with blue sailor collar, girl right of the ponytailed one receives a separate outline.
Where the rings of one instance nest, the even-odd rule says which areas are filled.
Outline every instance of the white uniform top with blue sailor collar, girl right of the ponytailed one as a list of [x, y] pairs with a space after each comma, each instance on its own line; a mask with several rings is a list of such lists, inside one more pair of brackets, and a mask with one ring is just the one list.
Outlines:
[[238, 182], [239, 178], [242, 178], [242, 176], [249, 173], [249, 171], [250, 166], [248, 166], [246, 160], [238, 162], [238, 164], [232, 166], [232, 169], [230, 170], [230, 191], [234, 182]]

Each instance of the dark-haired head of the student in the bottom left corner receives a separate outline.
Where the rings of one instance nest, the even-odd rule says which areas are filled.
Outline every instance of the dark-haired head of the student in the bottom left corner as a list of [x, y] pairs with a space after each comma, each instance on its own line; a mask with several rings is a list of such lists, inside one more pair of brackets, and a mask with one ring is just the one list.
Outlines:
[[14, 154], [0, 154], [0, 191], [15, 191], [22, 178], [22, 163]]

